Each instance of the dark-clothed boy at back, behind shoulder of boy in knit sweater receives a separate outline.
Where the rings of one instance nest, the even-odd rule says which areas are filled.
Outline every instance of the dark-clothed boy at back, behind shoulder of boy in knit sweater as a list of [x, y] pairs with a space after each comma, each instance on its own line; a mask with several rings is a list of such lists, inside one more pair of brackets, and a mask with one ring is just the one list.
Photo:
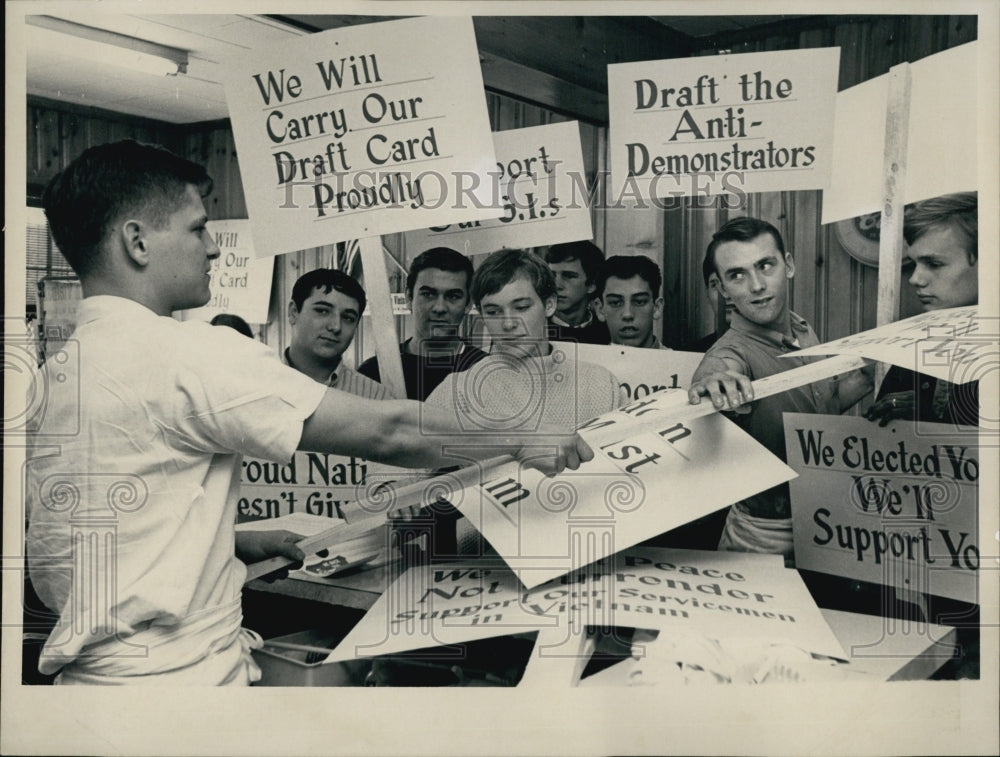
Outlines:
[[593, 242], [555, 244], [545, 255], [556, 280], [556, 309], [549, 337], [562, 342], [611, 344], [608, 326], [592, 308], [604, 269], [604, 253]]

